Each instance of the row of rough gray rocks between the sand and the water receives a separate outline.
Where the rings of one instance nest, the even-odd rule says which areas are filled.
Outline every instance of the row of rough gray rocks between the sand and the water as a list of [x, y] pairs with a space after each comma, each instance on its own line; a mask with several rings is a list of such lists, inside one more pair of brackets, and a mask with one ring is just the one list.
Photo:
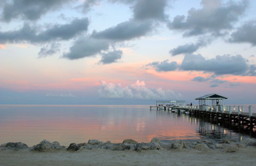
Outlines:
[[212, 151], [219, 150], [221, 152], [236, 152], [240, 148], [247, 146], [256, 146], [256, 140], [247, 139], [236, 143], [235, 140], [224, 139], [217, 144], [213, 144], [211, 141], [200, 140], [197, 142], [186, 142], [184, 140], [176, 140], [171, 144], [162, 143], [158, 138], [153, 138], [150, 143], [138, 143], [135, 140], [127, 139], [123, 143], [111, 143], [110, 141], [101, 142], [98, 140], [89, 140], [87, 143], [71, 143], [68, 147], [61, 146], [59, 142], [50, 142], [47, 140], [41, 141], [39, 144], [28, 147], [22, 142], [9, 142], [0, 145], [0, 150], [14, 150], [29, 149], [31, 151], [50, 151], [53, 149], [66, 149], [69, 151], [81, 151], [84, 149], [108, 149], [112, 151], [124, 151], [133, 150], [140, 152], [142, 150], [171, 150], [171, 149], [196, 149], [199, 151]]

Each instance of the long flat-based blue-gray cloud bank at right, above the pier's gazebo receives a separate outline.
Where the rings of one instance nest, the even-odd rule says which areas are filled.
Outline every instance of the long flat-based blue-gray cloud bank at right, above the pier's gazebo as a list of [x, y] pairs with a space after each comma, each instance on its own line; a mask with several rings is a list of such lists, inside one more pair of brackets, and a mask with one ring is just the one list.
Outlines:
[[[201, 54], [186, 54], [181, 64], [172, 61], [168, 62], [152, 62], [146, 66], [153, 66], [156, 71], [168, 72], [173, 70], [179, 71], [202, 71], [213, 73], [212, 78], [216, 75], [232, 74], [232, 75], [256, 75], [256, 65], [247, 64], [248, 60], [241, 55], [217, 55], [212, 59], [205, 59]], [[200, 81], [202, 78], [194, 78], [194, 81]]]

